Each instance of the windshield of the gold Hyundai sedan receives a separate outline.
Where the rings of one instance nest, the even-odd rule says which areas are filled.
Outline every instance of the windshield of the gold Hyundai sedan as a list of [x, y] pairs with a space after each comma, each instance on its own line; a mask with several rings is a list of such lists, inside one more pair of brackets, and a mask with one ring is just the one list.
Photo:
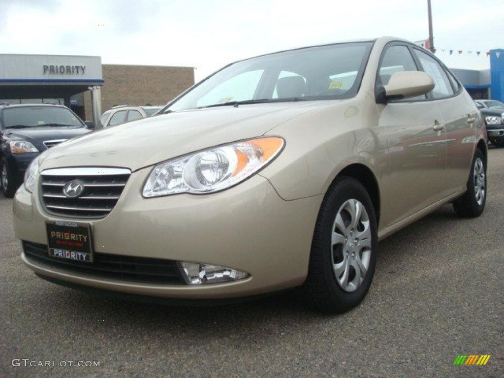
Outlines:
[[164, 111], [236, 102], [323, 100], [355, 96], [372, 42], [278, 52], [236, 62]]

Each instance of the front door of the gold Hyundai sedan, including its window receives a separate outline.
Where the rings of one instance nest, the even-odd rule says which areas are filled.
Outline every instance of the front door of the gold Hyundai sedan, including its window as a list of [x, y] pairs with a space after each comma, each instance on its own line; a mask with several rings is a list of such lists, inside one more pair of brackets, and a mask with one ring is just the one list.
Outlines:
[[[376, 86], [400, 71], [418, 71], [408, 45], [389, 43], [382, 53]], [[389, 179], [386, 226], [391, 226], [441, 199], [446, 167], [445, 130], [438, 108], [426, 96], [377, 104], [379, 125], [387, 132]], [[390, 197], [389, 197], [390, 196]]]

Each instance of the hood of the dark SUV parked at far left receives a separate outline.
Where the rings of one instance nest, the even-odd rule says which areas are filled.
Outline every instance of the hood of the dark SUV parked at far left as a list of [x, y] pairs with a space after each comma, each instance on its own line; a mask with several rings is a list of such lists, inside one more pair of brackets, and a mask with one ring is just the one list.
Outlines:
[[54, 141], [60, 139], [72, 139], [80, 135], [89, 133], [86, 128], [48, 128], [36, 127], [30, 129], [5, 129], [4, 136], [6, 139], [15, 141], [28, 141], [33, 144], [39, 151], [46, 149], [44, 141]]

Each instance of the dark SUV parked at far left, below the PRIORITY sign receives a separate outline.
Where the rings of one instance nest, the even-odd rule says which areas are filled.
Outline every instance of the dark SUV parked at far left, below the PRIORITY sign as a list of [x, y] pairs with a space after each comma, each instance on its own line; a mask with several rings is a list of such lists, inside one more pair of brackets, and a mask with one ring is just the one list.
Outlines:
[[0, 188], [4, 196], [14, 196], [28, 164], [38, 154], [89, 131], [65, 106], [0, 104]]

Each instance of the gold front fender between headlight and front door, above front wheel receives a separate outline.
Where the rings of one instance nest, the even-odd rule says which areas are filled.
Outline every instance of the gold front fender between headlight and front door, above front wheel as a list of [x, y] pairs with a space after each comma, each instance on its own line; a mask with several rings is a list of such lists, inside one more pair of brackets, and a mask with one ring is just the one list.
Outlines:
[[295, 118], [268, 134], [282, 136], [285, 149], [261, 171], [284, 200], [325, 194], [351, 164], [362, 164], [380, 184], [387, 172], [385, 130], [372, 125], [376, 107], [366, 98], [343, 101]]

